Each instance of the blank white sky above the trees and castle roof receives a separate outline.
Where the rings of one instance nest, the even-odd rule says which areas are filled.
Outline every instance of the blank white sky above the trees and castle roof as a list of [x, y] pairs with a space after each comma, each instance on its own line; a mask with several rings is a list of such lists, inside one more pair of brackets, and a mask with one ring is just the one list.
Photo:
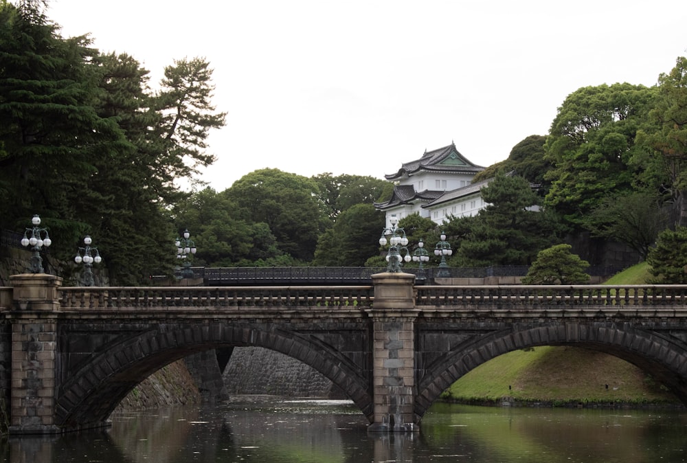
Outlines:
[[383, 178], [452, 141], [490, 166], [576, 89], [651, 86], [687, 54], [684, 0], [50, 0], [47, 16], [151, 86], [174, 59], [210, 62], [218, 191], [262, 168]]

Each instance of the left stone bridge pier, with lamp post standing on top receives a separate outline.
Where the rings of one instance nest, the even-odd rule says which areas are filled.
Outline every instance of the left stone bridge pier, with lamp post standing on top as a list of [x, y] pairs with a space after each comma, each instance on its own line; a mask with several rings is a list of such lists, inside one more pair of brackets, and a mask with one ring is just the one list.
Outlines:
[[13, 434], [57, 433], [55, 362], [62, 278], [45, 273], [10, 276], [12, 381], [10, 427]]

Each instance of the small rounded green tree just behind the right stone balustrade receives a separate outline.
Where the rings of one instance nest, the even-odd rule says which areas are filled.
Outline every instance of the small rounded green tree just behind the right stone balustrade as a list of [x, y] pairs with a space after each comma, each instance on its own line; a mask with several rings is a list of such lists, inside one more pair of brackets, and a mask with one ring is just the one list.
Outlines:
[[589, 262], [570, 252], [570, 245], [554, 245], [537, 253], [523, 284], [585, 284]]

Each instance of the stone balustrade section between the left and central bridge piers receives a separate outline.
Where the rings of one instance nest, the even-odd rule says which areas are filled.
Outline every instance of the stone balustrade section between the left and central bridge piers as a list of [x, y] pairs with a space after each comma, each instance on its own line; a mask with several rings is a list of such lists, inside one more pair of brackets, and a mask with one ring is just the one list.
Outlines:
[[63, 309], [371, 306], [372, 286], [106, 286], [60, 288]]

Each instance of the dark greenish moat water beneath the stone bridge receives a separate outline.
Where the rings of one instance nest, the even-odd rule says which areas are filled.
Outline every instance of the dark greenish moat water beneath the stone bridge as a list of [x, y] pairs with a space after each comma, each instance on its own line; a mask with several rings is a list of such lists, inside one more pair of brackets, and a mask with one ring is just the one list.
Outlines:
[[8, 438], [7, 462], [685, 462], [687, 411], [436, 403], [416, 434], [368, 434], [347, 400], [238, 396], [115, 414], [106, 431]]

